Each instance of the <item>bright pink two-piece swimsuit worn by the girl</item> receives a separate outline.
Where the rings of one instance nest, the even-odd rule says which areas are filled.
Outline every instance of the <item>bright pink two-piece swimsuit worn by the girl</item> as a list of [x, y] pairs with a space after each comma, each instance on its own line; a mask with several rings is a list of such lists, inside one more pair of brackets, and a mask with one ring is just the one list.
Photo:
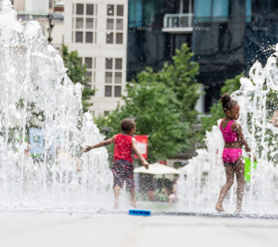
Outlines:
[[[223, 121], [223, 120], [222, 120]], [[221, 121], [221, 123], [222, 123]], [[231, 125], [234, 121], [228, 123], [226, 128], [222, 129], [221, 123], [220, 123], [220, 130], [222, 132], [223, 138], [225, 142], [235, 142], [238, 140], [237, 133], [235, 131], [231, 130]], [[225, 163], [234, 163], [239, 156], [242, 155], [242, 150], [239, 148], [224, 148], [222, 159]]]

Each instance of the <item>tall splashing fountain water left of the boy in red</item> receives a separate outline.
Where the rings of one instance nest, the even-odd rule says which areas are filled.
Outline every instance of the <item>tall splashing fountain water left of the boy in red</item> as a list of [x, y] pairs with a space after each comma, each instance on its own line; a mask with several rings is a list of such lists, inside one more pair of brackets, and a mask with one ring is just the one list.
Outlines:
[[[110, 198], [112, 173], [104, 147], [81, 155], [83, 145], [103, 140], [82, 114], [81, 84], [70, 81], [39, 23], [20, 24], [9, 0], [0, 2], [0, 23], [0, 207], [98, 207], [96, 195]], [[44, 138], [35, 160], [31, 127]]]

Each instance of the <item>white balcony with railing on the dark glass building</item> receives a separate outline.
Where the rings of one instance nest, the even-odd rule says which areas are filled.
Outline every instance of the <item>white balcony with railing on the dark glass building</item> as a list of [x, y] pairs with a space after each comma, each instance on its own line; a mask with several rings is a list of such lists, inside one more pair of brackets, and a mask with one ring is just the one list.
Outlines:
[[193, 14], [166, 14], [163, 19], [162, 32], [192, 33]]

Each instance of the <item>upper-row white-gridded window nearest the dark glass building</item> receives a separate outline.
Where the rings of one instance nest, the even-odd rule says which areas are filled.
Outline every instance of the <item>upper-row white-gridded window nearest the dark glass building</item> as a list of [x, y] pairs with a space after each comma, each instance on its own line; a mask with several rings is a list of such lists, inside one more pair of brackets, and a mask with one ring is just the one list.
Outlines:
[[[116, 9], [116, 11], [114, 11]], [[123, 44], [124, 6], [107, 5], [106, 44]]]

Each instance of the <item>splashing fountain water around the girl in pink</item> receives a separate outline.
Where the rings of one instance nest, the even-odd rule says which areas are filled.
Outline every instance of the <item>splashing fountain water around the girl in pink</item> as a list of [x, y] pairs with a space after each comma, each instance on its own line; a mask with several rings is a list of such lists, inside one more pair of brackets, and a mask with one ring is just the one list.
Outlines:
[[[242, 126], [244, 138], [257, 158], [257, 166], [250, 167], [250, 183], [245, 183], [243, 212], [249, 214], [278, 214], [278, 128], [270, 124], [271, 116], [277, 111], [278, 95], [278, 44], [268, 57], [263, 68], [256, 61], [249, 71], [249, 78], [241, 78], [241, 87], [232, 93], [240, 106], [237, 120]], [[216, 212], [220, 189], [226, 183], [222, 163], [224, 140], [218, 126], [206, 133], [206, 149], [197, 149], [183, 168], [187, 179], [181, 180], [183, 208], [188, 211]], [[243, 156], [247, 157], [243, 149]], [[236, 179], [223, 202], [223, 208], [235, 212]]]

